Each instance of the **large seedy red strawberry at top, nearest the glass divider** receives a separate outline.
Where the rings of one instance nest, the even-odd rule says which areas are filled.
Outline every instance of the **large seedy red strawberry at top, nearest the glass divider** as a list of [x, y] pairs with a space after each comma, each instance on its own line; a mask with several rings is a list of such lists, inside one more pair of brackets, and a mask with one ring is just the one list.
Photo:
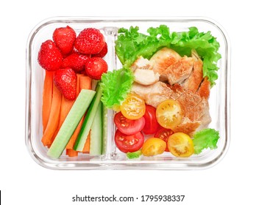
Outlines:
[[96, 54], [102, 51], [105, 45], [103, 34], [99, 29], [88, 28], [82, 30], [74, 42], [77, 51], [85, 54]]

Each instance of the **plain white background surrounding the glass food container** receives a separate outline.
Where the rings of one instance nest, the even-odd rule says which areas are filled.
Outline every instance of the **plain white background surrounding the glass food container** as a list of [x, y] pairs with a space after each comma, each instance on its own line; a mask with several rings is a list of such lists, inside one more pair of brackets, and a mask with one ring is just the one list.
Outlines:
[[[254, 204], [256, 15], [253, 1], [231, 2], [1, 1], [2, 204], [74, 204], [71, 197], [76, 194], [179, 194], [185, 195], [179, 204]], [[26, 40], [41, 20], [60, 15], [206, 16], [220, 23], [229, 34], [232, 49], [231, 143], [224, 159], [202, 171], [52, 171], [36, 164], [24, 142]]]

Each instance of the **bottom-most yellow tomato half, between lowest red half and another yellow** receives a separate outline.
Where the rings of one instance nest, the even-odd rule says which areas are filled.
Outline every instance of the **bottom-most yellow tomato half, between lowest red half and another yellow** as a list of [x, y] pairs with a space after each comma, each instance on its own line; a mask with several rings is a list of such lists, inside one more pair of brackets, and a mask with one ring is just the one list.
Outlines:
[[166, 150], [166, 142], [160, 138], [148, 138], [142, 146], [142, 154], [151, 157], [157, 154], [163, 154]]

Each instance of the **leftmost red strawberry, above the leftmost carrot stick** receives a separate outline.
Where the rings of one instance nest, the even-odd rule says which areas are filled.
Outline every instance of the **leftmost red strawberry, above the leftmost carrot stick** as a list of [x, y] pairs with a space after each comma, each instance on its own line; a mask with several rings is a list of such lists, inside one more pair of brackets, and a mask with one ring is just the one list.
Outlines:
[[63, 62], [63, 56], [60, 50], [52, 40], [43, 42], [38, 52], [38, 63], [45, 70], [58, 70]]

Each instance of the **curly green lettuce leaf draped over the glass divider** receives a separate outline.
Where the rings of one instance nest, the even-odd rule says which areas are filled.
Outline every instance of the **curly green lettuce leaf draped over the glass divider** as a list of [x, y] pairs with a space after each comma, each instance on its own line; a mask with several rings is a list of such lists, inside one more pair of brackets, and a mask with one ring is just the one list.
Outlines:
[[132, 88], [133, 80], [134, 75], [129, 68], [104, 73], [100, 84], [102, 103], [107, 108], [116, 108], [121, 105]]

